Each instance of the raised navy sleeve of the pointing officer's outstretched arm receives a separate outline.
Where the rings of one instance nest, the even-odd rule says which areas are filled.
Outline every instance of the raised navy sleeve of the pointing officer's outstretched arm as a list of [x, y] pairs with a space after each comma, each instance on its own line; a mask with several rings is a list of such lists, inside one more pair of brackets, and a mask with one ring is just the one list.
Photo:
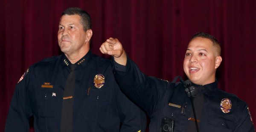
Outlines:
[[151, 116], [166, 91], [168, 82], [145, 75], [130, 59], [127, 59], [126, 66], [119, 65], [114, 60], [113, 65], [121, 90]]

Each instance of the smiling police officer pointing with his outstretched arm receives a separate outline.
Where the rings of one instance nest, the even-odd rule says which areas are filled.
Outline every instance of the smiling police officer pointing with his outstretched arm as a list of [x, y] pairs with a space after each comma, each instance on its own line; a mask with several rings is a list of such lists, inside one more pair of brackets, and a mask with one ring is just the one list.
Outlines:
[[100, 51], [113, 56], [116, 80], [150, 117], [150, 132], [254, 132], [247, 104], [218, 89], [221, 47], [211, 35], [192, 37], [183, 62], [189, 80], [177, 83], [146, 76], [118, 39], [107, 39]]

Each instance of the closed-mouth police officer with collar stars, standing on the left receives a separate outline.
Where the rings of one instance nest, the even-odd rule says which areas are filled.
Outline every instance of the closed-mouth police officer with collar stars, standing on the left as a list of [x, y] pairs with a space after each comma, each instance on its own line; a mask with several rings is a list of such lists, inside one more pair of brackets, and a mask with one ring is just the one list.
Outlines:
[[143, 112], [120, 91], [110, 60], [91, 53], [91, 20], [80, 8], [61, 14], [63, 54], [35, 63], [17, 83], [6, 132], [140, 132]]

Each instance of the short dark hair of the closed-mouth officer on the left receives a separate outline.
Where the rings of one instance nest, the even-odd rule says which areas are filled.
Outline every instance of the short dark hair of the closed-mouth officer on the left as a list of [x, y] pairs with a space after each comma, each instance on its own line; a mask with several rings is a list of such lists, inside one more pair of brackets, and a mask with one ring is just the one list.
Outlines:
[[91, 18], [90, 15], [78, 7], [70, 7], [67, 8], [65, 11], [62, 12], [61, 16], [63, 15], [79, 15], [81, 17], [80, 23], [83, 25], [83, 30], [87, 31], [88, 29], [92, 28]]

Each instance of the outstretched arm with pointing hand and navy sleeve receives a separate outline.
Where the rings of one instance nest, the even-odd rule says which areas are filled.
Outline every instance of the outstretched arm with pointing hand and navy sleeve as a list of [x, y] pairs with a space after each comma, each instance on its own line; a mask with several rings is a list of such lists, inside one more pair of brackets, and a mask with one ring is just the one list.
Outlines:
[[118, 39], [107, 39], [100, 51], [113, 56], [115, 78], [120, 88], [150, 116], [168, 87], [168, 82], [142, 73], [128, 58]]

